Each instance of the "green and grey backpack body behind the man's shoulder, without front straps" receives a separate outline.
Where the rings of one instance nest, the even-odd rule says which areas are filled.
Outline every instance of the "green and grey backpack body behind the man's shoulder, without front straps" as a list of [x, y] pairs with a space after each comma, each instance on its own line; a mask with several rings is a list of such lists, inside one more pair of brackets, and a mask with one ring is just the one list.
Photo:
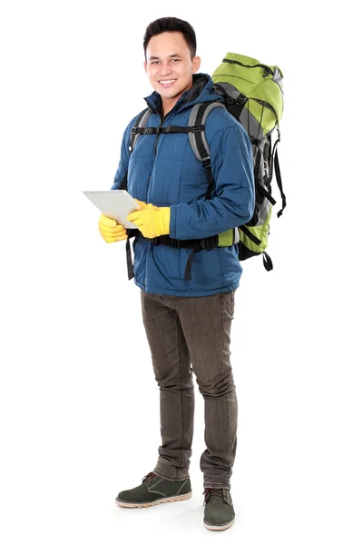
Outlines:
[[[252, 144], [255, 210], [250, 222], [238, 228], [239, 259], [243, 261], [253, 255], [262, 254], [267, 271], [273, 268], [270, 256], [265, 250], [270, 234], [272, 206], [276, 204], [271, 195], [274, 167], [282, 200], [278, 217], [286, 206], [277, 152], [283, 111], [282, 78], [278, 66], [260, 64], [248, 56], [233, 53], [226, 54], [211, 76], [215, 91], [224, 97], [227, 110], [247, 131]], [[272, 147], [271, 136], [275, 128], [278, 138]], [[224, 233], [220, 235], [220, 245], [227, 245], [223, 243], [224, 236]]]

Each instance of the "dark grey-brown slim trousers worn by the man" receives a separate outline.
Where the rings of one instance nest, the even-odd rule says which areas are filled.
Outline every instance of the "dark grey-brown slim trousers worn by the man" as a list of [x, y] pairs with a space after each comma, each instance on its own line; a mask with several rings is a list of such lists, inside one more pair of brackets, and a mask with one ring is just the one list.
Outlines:
[[189, 477], [194, 372], [204, 398], [203, 484], [231, 488], [238, 414], [230, 362], [233, 312], [234, 292], [176, 297], [142, 290], [142, 321], [160, 388], [162, 445], [153, 470], [159, 477]]

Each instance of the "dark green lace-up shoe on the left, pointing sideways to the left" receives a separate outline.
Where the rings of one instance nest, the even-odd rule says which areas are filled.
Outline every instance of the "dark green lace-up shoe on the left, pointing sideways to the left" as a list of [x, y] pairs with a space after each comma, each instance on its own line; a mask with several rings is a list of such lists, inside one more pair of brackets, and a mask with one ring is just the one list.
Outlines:
[[168, 501], [189, 500], [191, 480], [167, 481], [155, 473], [148, 473], [142, 484], [131, 490], [123, 490], [116, 498], [120, 507], [152, 507]]

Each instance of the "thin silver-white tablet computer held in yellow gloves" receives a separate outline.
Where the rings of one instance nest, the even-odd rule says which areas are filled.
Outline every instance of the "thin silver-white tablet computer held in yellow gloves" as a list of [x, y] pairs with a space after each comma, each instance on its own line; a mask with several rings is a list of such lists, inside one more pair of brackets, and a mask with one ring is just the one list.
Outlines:
[[83, 193], [104, 215], [116, 220], [117, 223], [122, 223], [126, 229], [138, 229], [137, 225], [128, 222], [126, 218], [129, 213], [141, 210], [141, 206], [126, 190], [83, 191]]

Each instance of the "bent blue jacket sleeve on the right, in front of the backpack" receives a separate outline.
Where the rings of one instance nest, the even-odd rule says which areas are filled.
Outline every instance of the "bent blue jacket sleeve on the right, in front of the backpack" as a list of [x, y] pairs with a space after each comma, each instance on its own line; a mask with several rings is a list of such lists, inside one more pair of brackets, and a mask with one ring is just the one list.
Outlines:
[[172, 238], [206, 238], [248, 223], [253, 215], [255, 189], [248, 134], [241, 125], [233, 124], [215, 134], [209, 145], [214, 196], [208, 201], [172, 204]]

